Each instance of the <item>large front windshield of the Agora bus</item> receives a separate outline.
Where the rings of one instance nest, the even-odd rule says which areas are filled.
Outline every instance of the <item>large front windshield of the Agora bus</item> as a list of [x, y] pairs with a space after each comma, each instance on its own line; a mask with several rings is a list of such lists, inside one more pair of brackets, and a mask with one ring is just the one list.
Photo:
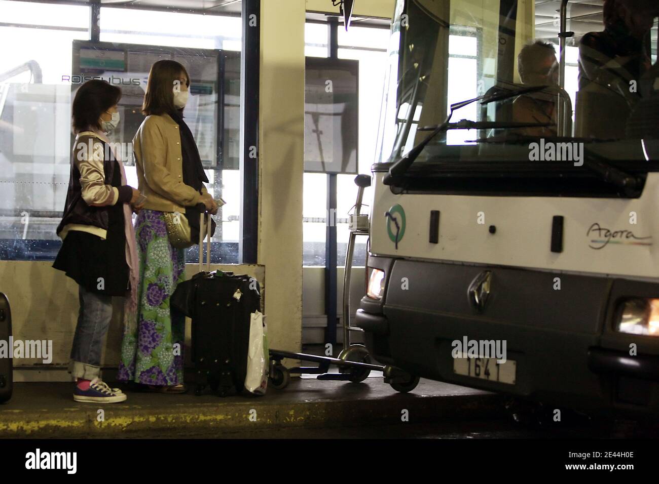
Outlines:
[[376, 163], [579, 166], [596, 153], [654, 171], [657, 16], [656, 0], [397, 0]]

